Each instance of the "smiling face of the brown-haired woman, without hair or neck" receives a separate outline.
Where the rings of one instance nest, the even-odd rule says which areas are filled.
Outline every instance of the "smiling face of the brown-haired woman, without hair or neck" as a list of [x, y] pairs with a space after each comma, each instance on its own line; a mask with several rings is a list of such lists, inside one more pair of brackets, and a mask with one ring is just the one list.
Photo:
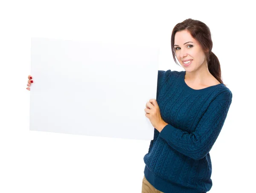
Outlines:
[[[176, 32], [174, 48], [177, 59], [187, 72], [195, 71], [203, 63], [206, 65], [204, 51], [187, 30]], [[184, 60], [192, 61], [186, 64]]]

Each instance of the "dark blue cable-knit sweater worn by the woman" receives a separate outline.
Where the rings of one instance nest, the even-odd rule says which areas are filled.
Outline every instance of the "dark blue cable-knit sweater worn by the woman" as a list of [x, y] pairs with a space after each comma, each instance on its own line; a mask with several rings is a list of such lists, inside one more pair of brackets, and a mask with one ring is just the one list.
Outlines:
[[164, 193], [205, 193], [212, 187], [209, 151], [232, 101], [224, 84], [192, 89], [186, 71], [158, 71], [157, 103], [163, 121], [144, 156], [145, 178]]

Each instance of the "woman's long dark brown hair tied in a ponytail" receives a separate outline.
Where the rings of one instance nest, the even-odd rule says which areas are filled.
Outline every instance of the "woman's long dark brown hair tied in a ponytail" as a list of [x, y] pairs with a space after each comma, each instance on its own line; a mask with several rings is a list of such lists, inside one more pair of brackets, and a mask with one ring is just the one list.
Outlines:
[[[177, 63], [175, 58], [175, 48], [174, 48], [174, 37], [176, 32], [187, 30], [190, 35], [197, 40], [198, 44], [204, 50], [204, 54], [207, 59], [209, 72], [223, 84], [221, 80], [221, 65], [217, 56], [212, 52], [212, 37], [209, 27], [198, 20], [186, 19], [177, 25], [172, 30], [171, 37], [171, 47], [172, 47], [172, 56]], [[178, 63], [177, 63], [178, 64]], [[226, 86], [226, 85], [225, 85]]]

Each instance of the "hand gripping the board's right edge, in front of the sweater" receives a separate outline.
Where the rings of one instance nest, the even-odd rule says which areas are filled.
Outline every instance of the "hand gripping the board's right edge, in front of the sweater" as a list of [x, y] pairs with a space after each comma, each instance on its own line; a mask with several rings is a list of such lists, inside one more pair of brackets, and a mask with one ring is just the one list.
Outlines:
[[150, 99], [149, 102], [146, 103], [145, 112], [145, 116], [150, 120], [153, 127], [161, 132], [167, 123], [163, 121], [160, 114], [160, 108], [155, 99]]

